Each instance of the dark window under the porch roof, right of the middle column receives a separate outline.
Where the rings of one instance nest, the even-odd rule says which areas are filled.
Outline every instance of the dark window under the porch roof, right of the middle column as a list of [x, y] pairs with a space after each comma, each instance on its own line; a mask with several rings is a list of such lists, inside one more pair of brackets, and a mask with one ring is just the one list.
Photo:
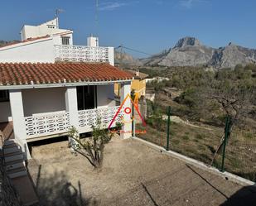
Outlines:
[[78, 110], [97, 108], [97, 86], [76, 88]]

